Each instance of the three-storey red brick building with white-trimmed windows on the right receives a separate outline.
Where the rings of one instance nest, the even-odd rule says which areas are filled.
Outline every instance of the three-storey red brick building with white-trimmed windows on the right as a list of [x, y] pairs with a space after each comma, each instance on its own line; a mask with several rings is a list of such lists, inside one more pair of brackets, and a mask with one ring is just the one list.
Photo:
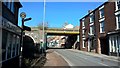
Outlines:
[[[120, 52], [119, 2], [105, 2], [80, 19], [80, 49], [106, 55]], [[116, 9], [118, 8], [118, 9]]]

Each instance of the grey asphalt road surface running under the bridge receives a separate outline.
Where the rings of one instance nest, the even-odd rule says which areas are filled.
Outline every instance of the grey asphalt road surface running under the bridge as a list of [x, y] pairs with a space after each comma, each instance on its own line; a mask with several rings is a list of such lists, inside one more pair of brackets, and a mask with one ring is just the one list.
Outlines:
[[57, 55], [64, 58], [69, 66], [73, 68], [119, 68], [118, 65], [120, 62], [117, 61], [101, 59], [99, 57], [94, 57], [67, 49], [54, 49], [54, 51]]

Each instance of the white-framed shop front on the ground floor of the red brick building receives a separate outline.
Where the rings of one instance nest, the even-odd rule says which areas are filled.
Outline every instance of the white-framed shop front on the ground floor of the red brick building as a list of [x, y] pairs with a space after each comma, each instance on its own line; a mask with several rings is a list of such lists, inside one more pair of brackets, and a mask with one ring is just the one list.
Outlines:
[[120, 32], [109, 33], [109, 55], [120, 56]]

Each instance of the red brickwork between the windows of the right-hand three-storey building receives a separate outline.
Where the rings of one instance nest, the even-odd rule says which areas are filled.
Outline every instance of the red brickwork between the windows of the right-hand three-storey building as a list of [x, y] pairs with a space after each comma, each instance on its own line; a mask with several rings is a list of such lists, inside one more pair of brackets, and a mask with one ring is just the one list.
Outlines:
[[[99, 22], [99, 8], [94, 10], [95, 12], [95, 35], [96, 35], [96, 52], [101, 52], [100, 38], [106, 39], [106, 35], [109, 31], [114, 31], [116, 28], [116, 17], [115, 17], [115, 2], [109, 2], [104, 4], [104, 16], [105, 16], [105, 33], [100, 33], [100, 22]], [[86, 31], [85, 38], [88, 37], [89, 32], [89, 15], [85, 17]], [[88, 42], [86, 41], [86, 48], [82, 48], [82, 22], [80, 22], [80, 49], [87, 51]], [[106, 44], [106, 43], [105, 43]], [[105, 45], [104, 45], [105, 46]]]

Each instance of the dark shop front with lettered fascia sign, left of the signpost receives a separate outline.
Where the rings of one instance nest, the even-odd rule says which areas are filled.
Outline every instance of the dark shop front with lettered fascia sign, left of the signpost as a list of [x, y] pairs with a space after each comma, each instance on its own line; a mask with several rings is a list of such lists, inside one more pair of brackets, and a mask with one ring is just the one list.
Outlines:
[[2, 67], [19, 66], [21, 29], [2, 17]]

